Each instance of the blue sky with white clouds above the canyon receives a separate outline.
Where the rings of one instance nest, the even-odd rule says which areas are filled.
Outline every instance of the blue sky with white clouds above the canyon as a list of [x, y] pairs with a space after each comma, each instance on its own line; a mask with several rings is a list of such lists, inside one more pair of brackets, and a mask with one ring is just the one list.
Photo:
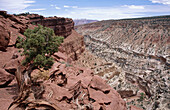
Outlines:
[[108, 20], [170, 15], [170, 0], [0, 0], [0, 10]]

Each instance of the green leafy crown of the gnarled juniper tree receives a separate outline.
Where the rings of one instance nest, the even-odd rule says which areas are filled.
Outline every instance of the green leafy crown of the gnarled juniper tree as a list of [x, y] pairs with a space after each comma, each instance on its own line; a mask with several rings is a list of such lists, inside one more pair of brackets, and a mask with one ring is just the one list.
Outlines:
[[18, 37], [16, 47], [23, 48], [26, 59], [23, 65], [33, 64], [38, 68], [49, 69], [53, 64], [51, 55], [58, 51], [63, 37], [55, 36], [50, 28], [38, 25], [34, 30], [24, 32], [26, 39]]

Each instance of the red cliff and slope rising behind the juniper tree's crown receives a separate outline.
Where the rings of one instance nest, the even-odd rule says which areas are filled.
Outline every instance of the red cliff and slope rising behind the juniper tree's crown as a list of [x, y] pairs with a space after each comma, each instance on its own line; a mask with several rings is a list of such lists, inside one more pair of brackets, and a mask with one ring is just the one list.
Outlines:
[[72, 60], [84, 51], [84, 39], [74, 31], [74, 22], [69, 18], [48, 17], [38, 14], [14, 16], [5, 11], [0, 12], [0, 49], [5, 50], [8, 46], [14, 46], [18, 36], [24, 37], [25, 29], [33, 29], [37, 24], [52, 28], [56, 35], [65, 37], [64, 43], [59, 50], [68, 54]]

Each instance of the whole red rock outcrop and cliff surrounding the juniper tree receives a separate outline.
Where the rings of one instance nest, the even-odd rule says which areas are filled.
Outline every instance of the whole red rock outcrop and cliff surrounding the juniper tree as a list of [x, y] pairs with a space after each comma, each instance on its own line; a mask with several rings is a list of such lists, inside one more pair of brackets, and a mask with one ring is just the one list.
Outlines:
[[[15, 47], [18, 36], [25, 29], [41, 24], [64, 36], [64, 43], [54, 53], [55, 63], [48, 71], [34, 69], [34, 82], [29, 90], [18, 94], [15, 76], [25, 67]], [[72, 19], [32, 15], [10, 15], [0, 11], [0, 109], [25, 110], [126, 110], [126, 103], [112, 87], [88, 68], [73, 65], [84, 52], [84, 38], [74, 31]], [[20, 50], [22, 51], [22, 50]], [[21, 67], [21, 68], [19, 68]], [[21, 77], [22, 80], [22, 75]], [[23, 81], [23, 80], [22, 80]], [[29, 93], [29, 94], [25, 94]], [[18, 97], [17, 97], [18, 96]], [[15, 103], [12, 103], [15, 99]], [[23, 106], [26, 105], [26, 106]], [[132, 107], [133, 109], [134, 107]]]

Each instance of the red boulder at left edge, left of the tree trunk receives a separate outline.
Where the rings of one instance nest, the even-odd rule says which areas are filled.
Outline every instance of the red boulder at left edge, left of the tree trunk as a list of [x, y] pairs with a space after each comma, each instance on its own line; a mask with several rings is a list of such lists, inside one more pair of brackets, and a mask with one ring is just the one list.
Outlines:
[[0, 68], [0, 87], [8, 86], [14, 78], [14, 75], [11, 75], [4, 69]]

